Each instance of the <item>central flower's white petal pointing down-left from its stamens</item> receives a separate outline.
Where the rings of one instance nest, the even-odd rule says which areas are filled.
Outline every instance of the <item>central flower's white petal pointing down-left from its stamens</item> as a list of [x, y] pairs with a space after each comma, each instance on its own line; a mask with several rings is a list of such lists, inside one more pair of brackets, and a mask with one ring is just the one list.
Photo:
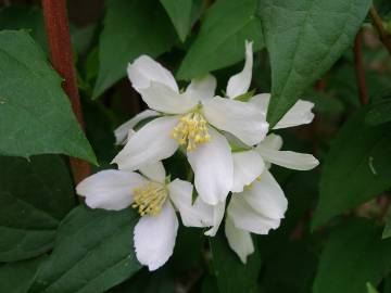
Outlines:
[[161, 117], [148, 123], [133, 135], [125, 148], [114, 157], [119, 169], [136, 170], [173, 155], [178, 142], [171, 132], [178, 117]]

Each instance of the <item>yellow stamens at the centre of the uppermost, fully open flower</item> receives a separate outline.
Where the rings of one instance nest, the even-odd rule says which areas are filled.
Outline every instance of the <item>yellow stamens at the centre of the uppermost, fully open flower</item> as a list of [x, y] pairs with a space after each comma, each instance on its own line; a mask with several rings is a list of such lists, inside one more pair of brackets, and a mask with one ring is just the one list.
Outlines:
[[199, 111], [182, 115], [174, 127], [172, 136], [179, 144], [187, 144], [188, 152], [194, 151], [198, 145], [211, 140], [206, 120]]

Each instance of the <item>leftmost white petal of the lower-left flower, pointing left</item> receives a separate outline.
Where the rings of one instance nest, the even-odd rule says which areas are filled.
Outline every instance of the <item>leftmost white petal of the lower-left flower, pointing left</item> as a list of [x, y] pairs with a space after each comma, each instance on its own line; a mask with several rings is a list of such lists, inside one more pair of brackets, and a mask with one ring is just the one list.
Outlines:
[[133, 202], [133, 190], [144, 184], [141, 175], [125, 170], [102, 170], [84, 179], [76, 187], [91, 208], [119, 211]]

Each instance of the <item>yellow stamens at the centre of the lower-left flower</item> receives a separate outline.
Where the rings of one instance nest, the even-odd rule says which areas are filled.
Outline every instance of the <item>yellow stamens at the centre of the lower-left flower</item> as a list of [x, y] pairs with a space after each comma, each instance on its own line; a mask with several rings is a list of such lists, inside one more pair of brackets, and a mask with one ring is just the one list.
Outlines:
[[149, 182], [141, 188], [134, 189], [131, 207], [137, 208], [141, 216], [157, 216], [168, 196], [167, 189], [157, 182]]

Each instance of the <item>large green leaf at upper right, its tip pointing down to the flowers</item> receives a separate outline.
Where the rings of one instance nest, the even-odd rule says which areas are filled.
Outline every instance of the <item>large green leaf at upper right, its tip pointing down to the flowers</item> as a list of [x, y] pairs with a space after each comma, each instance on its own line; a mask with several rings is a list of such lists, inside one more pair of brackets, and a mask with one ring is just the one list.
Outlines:
[[352, 44], [370, 0], [260, 0], [272, 65], [270, 127]]

